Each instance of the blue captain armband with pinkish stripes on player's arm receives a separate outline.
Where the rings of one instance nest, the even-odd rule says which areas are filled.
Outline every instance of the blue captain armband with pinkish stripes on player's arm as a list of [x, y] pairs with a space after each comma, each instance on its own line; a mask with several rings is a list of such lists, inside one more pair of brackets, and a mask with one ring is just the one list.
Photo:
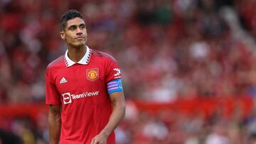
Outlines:
[[107, 93], [112, 94], [114, 92], [122, 92], [122, 80], [121, 79], [113, 79], [107, 83]]

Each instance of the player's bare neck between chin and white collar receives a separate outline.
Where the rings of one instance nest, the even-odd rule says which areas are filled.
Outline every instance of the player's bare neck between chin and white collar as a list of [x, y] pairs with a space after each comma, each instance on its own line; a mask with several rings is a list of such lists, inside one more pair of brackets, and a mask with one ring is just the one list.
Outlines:
[[68, 57], [73, 62], [79, 62], [85, 55], [86, 47], [85, 45], [80, 47], [68, 47]]

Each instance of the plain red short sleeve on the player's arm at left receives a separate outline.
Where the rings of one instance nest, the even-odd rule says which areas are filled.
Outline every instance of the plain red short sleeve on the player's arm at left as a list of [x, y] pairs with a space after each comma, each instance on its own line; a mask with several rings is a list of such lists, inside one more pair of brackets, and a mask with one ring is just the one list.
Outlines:
[[60, 104], [60, 94], [52, 79], [50, 70], [46, 69], [46, 104]]

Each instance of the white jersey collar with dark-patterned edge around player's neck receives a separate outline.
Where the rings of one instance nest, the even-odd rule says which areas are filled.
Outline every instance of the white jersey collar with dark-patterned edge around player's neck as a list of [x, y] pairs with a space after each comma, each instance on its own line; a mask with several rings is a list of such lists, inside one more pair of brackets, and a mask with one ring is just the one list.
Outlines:
[[[90, 61], [90, 56], [92, 55], [92, 52], [90, 48], [86, 46], [86, 52], [85, 55], [82, 57], [82, 59], [78, 62], [78, 64], [87, 65]], [[65, 52], [65, 65], [67, 67], [71, 67], [72, 65], [75, 65], [76, 62], [73, 62], [73, 60], [70, 60], [68, 57], [68, 50]]]

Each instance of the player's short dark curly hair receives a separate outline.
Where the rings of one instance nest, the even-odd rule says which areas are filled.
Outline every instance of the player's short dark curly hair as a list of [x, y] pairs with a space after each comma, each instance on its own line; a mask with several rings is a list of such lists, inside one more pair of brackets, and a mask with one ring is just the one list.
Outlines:
[[61, 31], [65, 30], [67, 22], [73, 18], [82, 18], [82, 20], [85, 21], [85, 18], [82, 17], [82, 14], [79, 11], [76, 11], [75, 9], [70, 9], [69, 11], [66, 11], [60, 18]]

